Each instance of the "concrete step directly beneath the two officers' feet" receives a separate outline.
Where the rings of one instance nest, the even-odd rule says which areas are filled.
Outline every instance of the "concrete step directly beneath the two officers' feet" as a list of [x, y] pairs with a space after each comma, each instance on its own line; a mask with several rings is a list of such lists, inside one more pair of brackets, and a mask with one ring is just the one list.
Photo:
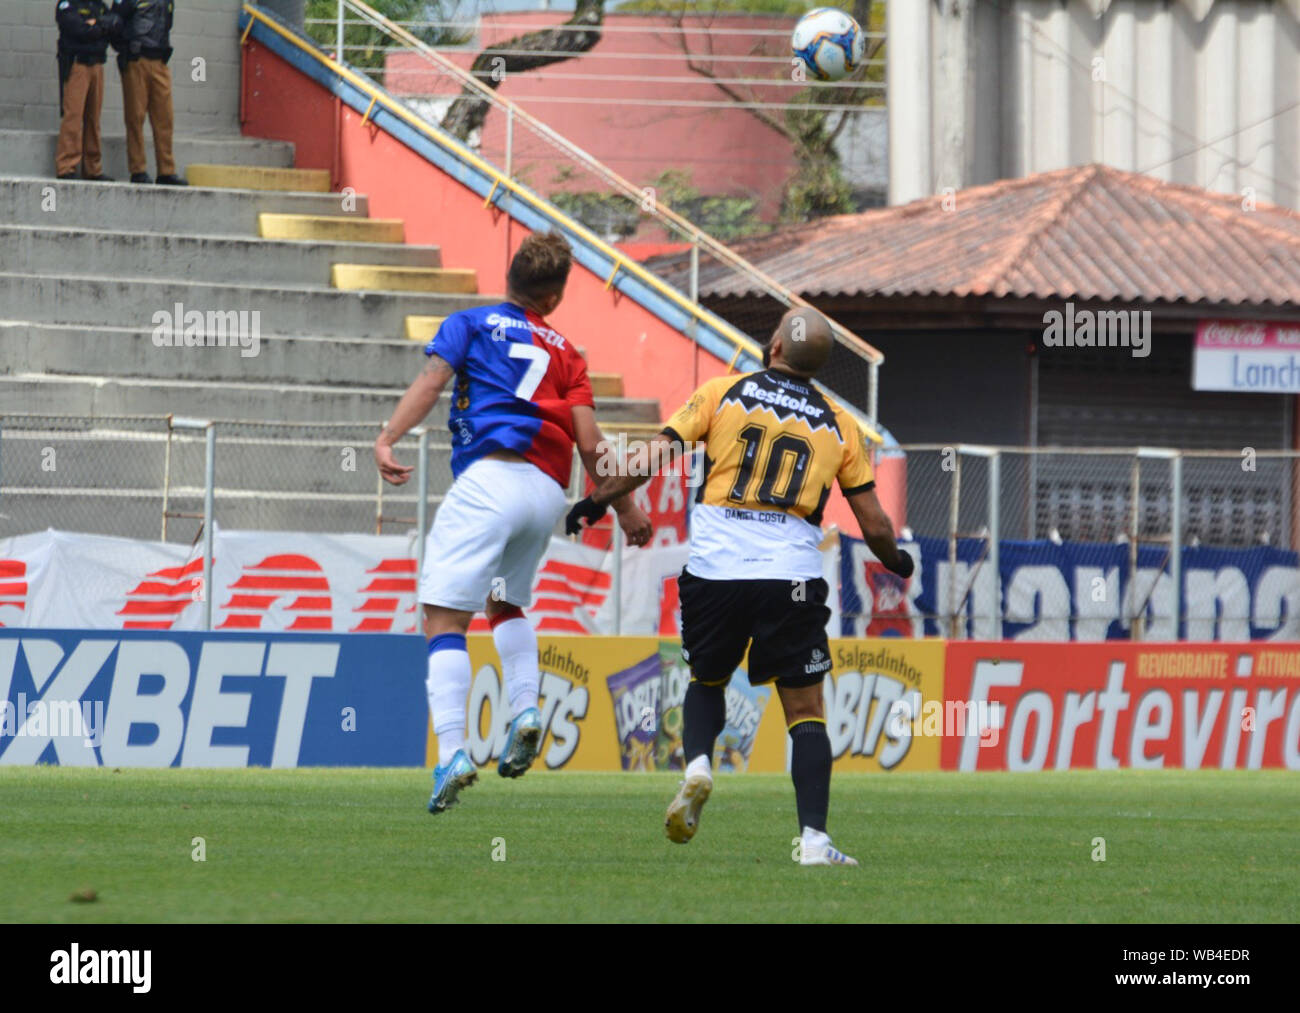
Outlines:
[[0, 221], [9, 225], [254, 237], [264, 212], [364, 218], [369, 199], [344, 208], [339, 194], [0, 178]]

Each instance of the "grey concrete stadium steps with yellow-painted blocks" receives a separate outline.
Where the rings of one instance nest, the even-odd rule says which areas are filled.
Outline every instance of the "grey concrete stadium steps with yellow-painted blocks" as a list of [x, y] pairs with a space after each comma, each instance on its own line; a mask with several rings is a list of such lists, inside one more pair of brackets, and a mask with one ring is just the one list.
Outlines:
[[[4, 484], [25, 492], [4, 498], [0, 537], [51, 525], [159, 537], [162, 445], [108, 416], [168, 414], [355, 423], [272, 456], [260, 441], [273, 427], [224, 432], [220, 516], [228, 528], [373, 529], [373, 468], [342, 469], [339, 447], [368, 455], [442, 319], [499, 296], [480, 294], [473, 272], [443, 265], [437, 247], [406, 243], [400, 220], [370, 218], [365, 195], [344, 202], [326, 173], [294, 169], [289, 144], [178, 139], [196, 185], [160, 187], [56, 181], [53, 137], [0, 130], [0, 415], [103, 423], [74, 437], [53, 420], [48, 432], [5, 430]], [[107, 157], [107, 172], [125, 173], [112, 139]], [[257, 355], [160, 346], [178, 304], [256, 309]], [[624, 398], [620, 376], [592, 380], [607, 432], [658, 421], [658, 403]], [[436, 492], [450, 480], [445, 424], [446, 401], [430, 419]], [[43, 493], [44, 445], [58, 447], [60, 488], [105, 497]], [[202, 449], [177, 443], [172, 507], [198, 510], [199, 485]], [[169, 529], [173, 540], [192, 533], [192, 521]]]

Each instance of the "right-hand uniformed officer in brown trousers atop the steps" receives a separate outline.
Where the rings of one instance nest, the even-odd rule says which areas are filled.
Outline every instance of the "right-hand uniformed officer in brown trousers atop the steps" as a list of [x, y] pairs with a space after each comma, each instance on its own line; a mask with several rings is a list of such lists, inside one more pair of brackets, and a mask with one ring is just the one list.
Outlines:
[[144, 153], [144, 116], [153, 130], [155, 182], [186, 186], [177, 176], [172, 155], [172, 16], [174, 0], [117, 0], [113, 13], [122, 29], [113, 39], [117, 69], [122, 72], [122, 108], [126, 114], [126, 160], [133, 183], [150, 181]]

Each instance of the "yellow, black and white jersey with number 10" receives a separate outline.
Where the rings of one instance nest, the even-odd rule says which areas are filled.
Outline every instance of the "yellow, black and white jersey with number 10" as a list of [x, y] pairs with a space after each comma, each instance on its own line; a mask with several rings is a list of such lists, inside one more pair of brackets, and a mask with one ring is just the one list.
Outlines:
[[701, 386], [664, 425], [705, 443], [686, 568], [710, 580], [822, 575], [822, 514], [836, 481], [871, 489], [866, 437], [811, 384], [777, 369]]

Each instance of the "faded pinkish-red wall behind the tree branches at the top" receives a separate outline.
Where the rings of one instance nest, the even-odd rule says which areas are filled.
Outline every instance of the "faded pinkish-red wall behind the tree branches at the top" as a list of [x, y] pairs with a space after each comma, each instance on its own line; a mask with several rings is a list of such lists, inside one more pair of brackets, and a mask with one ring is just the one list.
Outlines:
[[[560, 10], [486, 13], [478, 22], [477, 46], [443, 53], [468, 69], [478, 47], [559, 25], [568, 17]], [[800, 91], [790, 81], [794, 21], [715, 13], [685, 17], [684, 31], [677, 31], [673, 18], [664, 14], [610, 13], [592, 49], [526, 74], [507, 74], [498, 91], [637, 186], [664, 169], [682, 170], [702, 192], [753, 198], [759, 213], [775, 220], [781, 190], [797, 168], [793, 146], [729, 100], [690, 62], [731, 82], [729, 87], [749, 101], [793, 101]], [[385, 69], [386, 86], [395, 95], [446, 98], [460, 91], [420, 53], [390, 53]], [[772, 83], [748, 83], [751, 81]], [[693, 104], [719, 101], [728, 105]], [[770, 114], [783, 113], [774, 109]], [[516, 126], [514, 143], [514, 164], [532, 166], [529, 185], [538, 192], [603, 189], [580, 176], [558, 179], [563, 163], [555, 150], [525, 129]], [[504, 117], [490, 112], [482, 151], [503, 164], [504, 146]]]

